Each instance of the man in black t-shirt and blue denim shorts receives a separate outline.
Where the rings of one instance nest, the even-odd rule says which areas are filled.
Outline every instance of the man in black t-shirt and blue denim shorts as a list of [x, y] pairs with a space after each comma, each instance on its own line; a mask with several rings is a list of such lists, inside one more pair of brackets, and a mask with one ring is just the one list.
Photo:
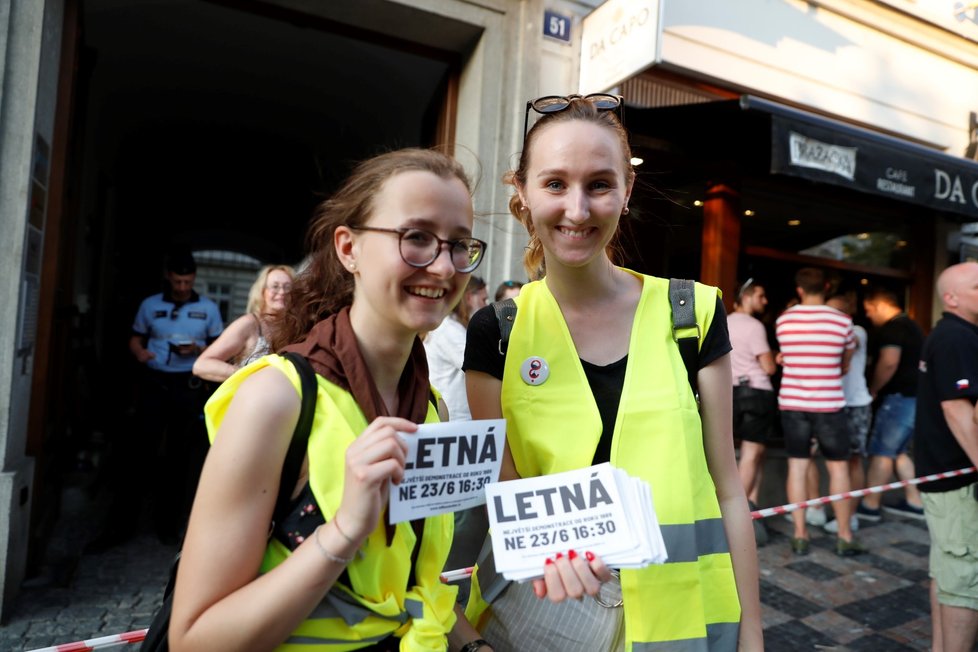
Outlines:
[[[866, 316], [876, 327], [871, 340], [874, 368], [869, 393], [876, 400], [876, 418], [869, 439], [870, 487], [889, 482], [894, 468], [897, 477], [914, 477], [913, 460], [907, 447], [913, 437], [914, 413], [917, 406], [917, 363], [924, 344], [924, 333], [900, 308], [891, 290], [876, 288], [863, 299]], [[884, 505], [883, 510], [923, 519], [924, 508], [920, 492], [907, 486], [906, 497], [896, 505]], [[882, 494], [869, 494], [856, 508], [859, 518], [878, 521]]]

